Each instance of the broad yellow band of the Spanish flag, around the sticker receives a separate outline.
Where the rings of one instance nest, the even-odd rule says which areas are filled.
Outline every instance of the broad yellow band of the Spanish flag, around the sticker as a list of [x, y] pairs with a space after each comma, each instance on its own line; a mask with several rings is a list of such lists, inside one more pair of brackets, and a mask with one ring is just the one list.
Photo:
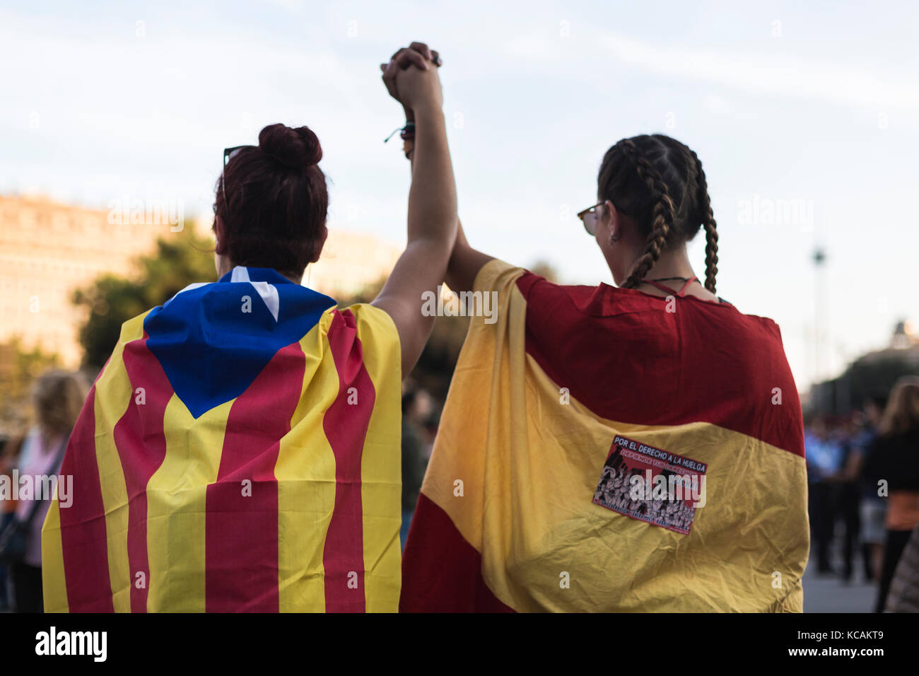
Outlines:
[[[523, 349], [518, 273], [490, 265], [482, 286], [501, 289], [501, 319], [473, 319], [451, 384], [463, 398], [448, 398], [423, 490], [482, 554], [497, 598], [518, 611], [800, 611], [803, 459], [708, 423], [630, 425], [563, 404]], [[690, 534], [592, 503], [617, 433], [709, 465]]]

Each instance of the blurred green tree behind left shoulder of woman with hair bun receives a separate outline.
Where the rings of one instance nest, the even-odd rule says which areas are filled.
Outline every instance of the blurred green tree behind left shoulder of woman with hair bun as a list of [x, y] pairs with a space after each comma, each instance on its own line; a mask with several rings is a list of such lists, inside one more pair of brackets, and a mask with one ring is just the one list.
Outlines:
[[160, 239], [153, 254], [138, 258], [135, 276], [103, 275], [74, 292], [74, 304], [87, 313], [80, 328], [84, 366], [102, 368], [118, 342], [121, 325], [131, 317], [164, 304], [188, 284], [214, 281], [212, 250], [210, 238], [196, 235], [187, 225], [182, 235]]

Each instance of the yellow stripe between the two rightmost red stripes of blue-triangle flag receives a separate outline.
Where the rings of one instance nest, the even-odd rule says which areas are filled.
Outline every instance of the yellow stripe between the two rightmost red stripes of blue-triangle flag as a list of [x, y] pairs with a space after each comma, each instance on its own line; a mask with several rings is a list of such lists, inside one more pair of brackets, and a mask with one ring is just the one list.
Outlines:
[[323, 544], [335, 507], [335, 453], [323, 415], [338, 395], [338, 372], [326, 332], [332, 315], [304, 336], [300, 403], [280, 442], [278, 479], [278, 601], [281, 613], [325, 610]]

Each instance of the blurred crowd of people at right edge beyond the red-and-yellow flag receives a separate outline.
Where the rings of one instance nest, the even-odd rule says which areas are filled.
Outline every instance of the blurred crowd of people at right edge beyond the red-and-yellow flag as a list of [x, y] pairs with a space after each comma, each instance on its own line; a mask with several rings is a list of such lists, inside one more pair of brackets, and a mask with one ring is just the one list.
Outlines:
[[805, 450], [809, 566], [844, 583], [860, 569], [877, 613], [919, 612], [919, 377], [845, 416], [809, 418]]

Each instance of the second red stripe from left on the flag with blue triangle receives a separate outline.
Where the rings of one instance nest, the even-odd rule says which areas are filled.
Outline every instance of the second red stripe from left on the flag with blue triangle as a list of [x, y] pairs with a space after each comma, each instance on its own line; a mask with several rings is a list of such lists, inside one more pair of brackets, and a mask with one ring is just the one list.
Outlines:
[[[124, 346], [122, 360], [128, 372], [131, 394], [128, 409], [115, 425], [115, 447], [128, 491], [128, 566], [130, 567], [130, 611], [147, 612], [150, 586], [150, 557], [147, 552], [147, 484], [163, 464], [166, 439], [163, 430], [166, 405], [172, 385], [147, 349], [147, 334]], [[143, 398], [138, 388], [143, 388]], [[142, 403], [138, 403], [142, 401]], [[138, 573], [142, 573], [143, 584]]]

